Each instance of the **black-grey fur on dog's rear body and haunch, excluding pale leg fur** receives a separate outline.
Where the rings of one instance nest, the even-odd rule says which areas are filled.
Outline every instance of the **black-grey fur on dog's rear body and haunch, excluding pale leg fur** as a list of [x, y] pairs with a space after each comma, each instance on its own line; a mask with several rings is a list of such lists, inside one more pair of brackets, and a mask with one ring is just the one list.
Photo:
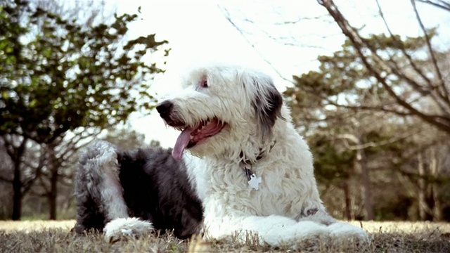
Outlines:
[[[162, 148], [117, 151], [119, 178], [129, 216], [151, 221], [161, 232], [173, 229], [177, 238], [185, 239], [200, 232], [203, 207], [188, 182], [185, 164], [174, 160], [171, 152]], [[85, 161], [92, 157], [95, 154], [84, 154], [77, 171], [77, 233], [89, 228], [101, 230], [108, 222], [99, 191], [86, 190], [87, 178], [101, 180], [84, 168]]]

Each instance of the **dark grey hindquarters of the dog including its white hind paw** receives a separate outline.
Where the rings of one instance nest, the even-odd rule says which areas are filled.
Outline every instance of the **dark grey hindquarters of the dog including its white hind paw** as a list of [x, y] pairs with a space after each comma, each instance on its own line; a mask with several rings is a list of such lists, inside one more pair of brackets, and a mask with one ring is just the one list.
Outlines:
[[203, 207], [186, 165], [171, 149], [124, 151], [106, 141], [89, 143], [75, 177], [75, 232], [103, 231], [105, 240], [173, 230], [180, 239], [200, 233]]

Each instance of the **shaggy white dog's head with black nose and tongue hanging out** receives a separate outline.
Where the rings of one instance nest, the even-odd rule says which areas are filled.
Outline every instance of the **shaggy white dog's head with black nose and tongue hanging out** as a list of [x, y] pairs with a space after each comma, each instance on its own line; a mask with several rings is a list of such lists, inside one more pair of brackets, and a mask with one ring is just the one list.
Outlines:
[[183, 82], [181, 93], [156, 108], [166, 124], [181, 131], [172, 153], [176, 159], [185, 148], [193, 155], [218, 155], [271, 141], [283, 98], [267, 74], [212, 65], [192, 70]]

